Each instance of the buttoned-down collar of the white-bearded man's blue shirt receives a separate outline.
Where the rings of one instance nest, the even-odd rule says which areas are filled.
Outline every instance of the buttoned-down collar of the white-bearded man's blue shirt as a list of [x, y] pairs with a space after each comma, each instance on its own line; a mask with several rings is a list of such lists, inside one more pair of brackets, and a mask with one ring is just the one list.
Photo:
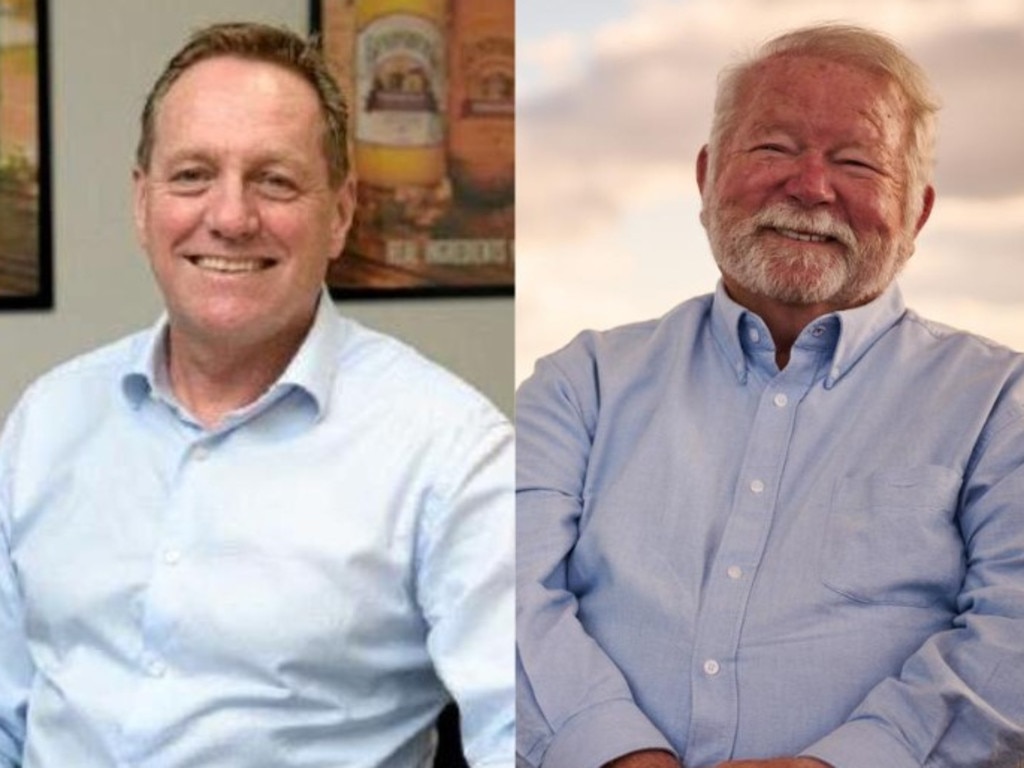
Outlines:
[[[810, 323], [795, 347], [818, 348], [830, 353], [831, 365], [824, 379], [830, 389], [890, 328], [903, 316], [906, 305], [895, 283], [873, 301], [853, 309], [830, 312]], [[757, 357], [774, 356], [775, 345], [767, 325], [757, 314], [737, 304], [719, 281], [712, 300], [712, 333], [741, 384]]]

